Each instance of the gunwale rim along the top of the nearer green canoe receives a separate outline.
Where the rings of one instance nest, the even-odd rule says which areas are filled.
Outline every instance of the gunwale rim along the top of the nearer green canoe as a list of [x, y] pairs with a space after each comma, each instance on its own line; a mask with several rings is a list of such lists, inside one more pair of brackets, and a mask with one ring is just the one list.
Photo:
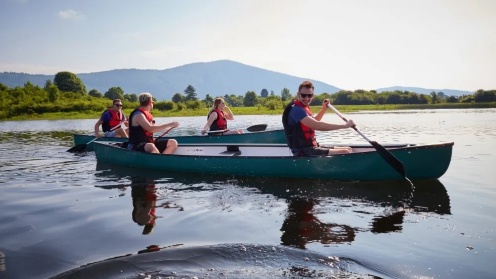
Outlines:
[[[150, 153], [150, 152], [145, 152], [145, 151], [136, 151], [136, 150], [129, 150], [127, 148], [122, 148], [120, 146], [112, 145], [112, 143], [121, 143], [121, 142], [112, 142], [112, 141], [94, 141], [97, 145], [102, 144], [107, 146], [107, 148], [118, 148], [118, 149], [123, 149], [124, 151], [127, 151], [129, 153], [144, 153], [150, 156], [167, 156], [167, 157], [188, 157], [188, 158], [236, 158], [236, 159], [293, 159], [293, 160], [307, 160], [309, 158], [331, 158], [331, 157], [337, 157], [337, 156], [356, 156], [356, 155], [363, 155], [363, 154], [370, 154], [370, 153], [375, 153], [377, 151], [362, 151], [362, 152], [353, 152], [353, 153], [347, 153], [347, 154], [332, 154], [332, 155], [309, 155], [309, 156], [243, 156], [243, 155], [237, 155], [237, 156], [226, 156], [226, 155], [183, 155], [183, 154], [161, 154], [161, 153]], [[341, 144], [344, 146], [349, 146], [346, 144]], [[415, 150], [415, 149], [427, 149], [427, 148], [438, 148], [438, 147], [444, 147], [444, 146], [453, 146], [454, 141], [449, 141], [449, 142], [439, 142], [439, 143], [425, 143], [425, 144], [414, 144], [414, 145], [407, 145], [404, 147], [391, 147], [391, 149], [388, 149], [390, 152], [395, 152], [395, 151], [402, 151], [402, 150]], [[236, 143], [185, 143], [185, 144], [179, 144], [179, 146], [226, 146], [226, 151], [229, 151], [230, 147], [239, 147], [239, 146], [260, 146], [260, 147], [283, 147], [287, 146], [285, 144], [271, 144], [271, 143], [248, 143], [248, 144], [236, 144]], [[360, 144], [358, 146], [354, 146], [354, 148], [371, 148], [372, 145], [369, 144]], [[387, 145], [385, 146], [387, 147]]]

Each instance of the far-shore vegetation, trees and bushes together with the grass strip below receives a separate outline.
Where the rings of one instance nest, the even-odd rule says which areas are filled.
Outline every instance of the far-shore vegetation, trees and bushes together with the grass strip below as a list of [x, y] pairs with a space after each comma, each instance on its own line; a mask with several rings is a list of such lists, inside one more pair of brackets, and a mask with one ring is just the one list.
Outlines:
[[[296, 86], [296, 85], [295, 85]], [[153, 92], [150, 92], [153, 95]], [[139, 93], [124, 93], [121, 87], [111, 87], [104, 94], [95, 89], [86, 91], [74, 73], [58, 72], [54, 80], [48, 79], [44, 87], [26, 82], [23, 87], [10, 88], [0, 83], [0, 121], [16, 120], [62, 120], [98, 119], [112, 100], [121, 99], [126, 116], [136, 107]], [[266, 89], [256, 94], [248, 91], [242, 95], [221, 96], [236, 115], [280, 115], [295, 93], [283, 88], [280, 95]], [[217, 97], [217, 96], [216, 96]], [[210, 110], [215, 97], [206, 94], [203, 100], [197, 98], [196, 89], [188, 85], [183, 93], [176, 93], [172, 100], [155, 99], [152, 114], [155, 117], [203, 116]], [[409, 91], [386, 91], [357, 89], [336, 93], [315, 94], [311, 109], [317, 113], [324, 99], [330, 99], [333, 106], [342, 113], [359, 111], [416, 110], [416, 109], [472, 109], [496, 108], [496, 90], [479, 89], [474, 94], [446, 96], [443, 92], [430, 95]]]

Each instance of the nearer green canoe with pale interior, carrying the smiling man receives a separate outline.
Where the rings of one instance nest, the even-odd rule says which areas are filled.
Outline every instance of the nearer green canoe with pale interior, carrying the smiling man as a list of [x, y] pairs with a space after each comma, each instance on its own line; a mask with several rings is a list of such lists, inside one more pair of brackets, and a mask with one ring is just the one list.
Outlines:
[[[286, 144], [179, 144], [172, 155], [132, 151], [94, 142], [98, 161], [133, 167], [234, 176], [330, 180], [403, 180], [369, 144], [341, 155], [294, 157]], [[453, 142], [383, 144], [404, 165], [410, 180], [441, 177], [451, 162]]]

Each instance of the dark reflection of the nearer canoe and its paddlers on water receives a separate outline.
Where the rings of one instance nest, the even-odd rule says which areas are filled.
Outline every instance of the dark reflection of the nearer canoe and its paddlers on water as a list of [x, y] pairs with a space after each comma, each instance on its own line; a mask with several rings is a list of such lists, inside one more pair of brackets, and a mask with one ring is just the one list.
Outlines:
[[[131, 181], [133, 200], [133, 221], [145, 225], [143, 234], [151, 232], [155, 222], [155, 183], [160, 189], [171, 187], [174, 191], [215, 191], [223, 185], [253, 189], [254, 195], [272, 195], [284, 199], [287, 204], [285, 218], [280, 228], [281, 244], [305, 249], [309, 243], [324, 245], [351, 243], [359, 232], [393, 233], [402, 230], [404, 217], [408, 213], [451, 214], [449, 196], [439, 180], [413, 181], [415, 191], [408, 182], [346, 182], [329, 180], [275, 179], [256, 177], [229, 177], [219, 175], [194, 175], [188, 173], [167, 173], [157, 170], [122, 167], [97, 163], [96, 176], [105, 181]], [[207, 186], [214, 185], [215, 187]], [[153, 185], [153, 187], [151, 187]], [[168, 186], [171, 185], [171, 186]], [[182, 186], [178, 186], [182, 185]], [[116, 186], [97, 186], [116, 188]], [[413, 197], [412, 197], [413, 194]], [[165, 199], [165, 198], [162, 198]], [[163, 202], [158, 207], [177, 208], [181, 206]], [[363, 217], [372, 215], [367, 227], [323, 222], [319, 215], [351, 210]], [[347, 212], [347, 214], [350, 212]], [[349, 215], [346, 215], [347, 217]], [[343, 220], [343, 215], [338, 215]]]

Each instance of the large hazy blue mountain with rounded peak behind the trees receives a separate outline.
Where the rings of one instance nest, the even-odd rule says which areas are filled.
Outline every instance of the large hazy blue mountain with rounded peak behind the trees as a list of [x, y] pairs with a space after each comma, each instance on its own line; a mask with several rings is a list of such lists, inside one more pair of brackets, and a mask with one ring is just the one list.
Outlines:
[[[304, 78], [265, 70], [242, 63], [219, 60], [187, 64], [166, 70], [122, 69], [92, 73], [76, 73], [86, 85], [86, 89], [97, 89], [105, 93], [112, 86], [121, 86], [124, 93], [150, 92], [158, 100], [171, 100], [177, 93], [183, 93], [191, 84], [196, 89], [197, 97], [203, 99], [211, 96], [244, 95], [247, 91], [255, 91], [257, 95], [265, 88], [280, 95], [284, 87], [294, 94], [298, 85], [304, 80], [311, 80], [315, 85], [315, 93], [334, 93], [339, 90], [335, 86]], [[0, 82], [9, 86], [23, 86], [28, 80], [43, 86], [47, 79], [54, 75], [27, 74], [15, 72], [0, 73]]]

